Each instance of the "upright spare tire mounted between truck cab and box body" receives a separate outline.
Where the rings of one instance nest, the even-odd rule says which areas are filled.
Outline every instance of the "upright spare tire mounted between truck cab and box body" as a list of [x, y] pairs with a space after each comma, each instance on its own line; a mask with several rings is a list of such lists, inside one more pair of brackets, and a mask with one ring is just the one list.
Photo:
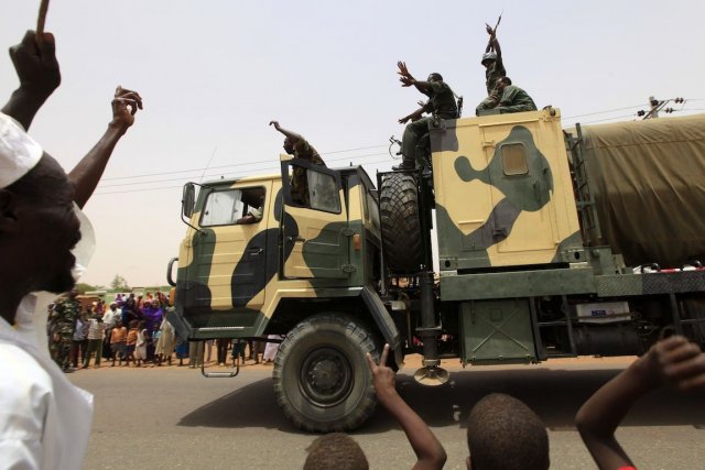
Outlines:
[[380, 188], [379, 211], [387, 267], [417, 272], [423, 263], [419, 194], [413, 176], [392, 173]]

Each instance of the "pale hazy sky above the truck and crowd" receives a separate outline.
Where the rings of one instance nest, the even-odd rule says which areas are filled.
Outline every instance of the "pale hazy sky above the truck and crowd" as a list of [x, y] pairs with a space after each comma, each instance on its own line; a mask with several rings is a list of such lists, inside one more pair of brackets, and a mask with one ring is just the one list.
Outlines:
[[[1, 0], [1, 47], [34, 29], [39, 3]], [[276, 172], [272, 119], [328, 166], [389, 168], [388, 139], [422, 98], [400, 86], [397, 61], [443, 74], [469, 116], [485, 96], [485, 22], [502, 10], [508, 75], [564, 125], [633, 119], [651, 95], [686, 98], [675, 116], [705, 111], [701, 1], [52, 0], [63, 84], [30, 133], [69, 171], [102, 134], [117, 85], [145, 107], [86, 206], [98, 249], [83, 281], [164, 284], [186, 230], [183, 184]], [[0, 99], [17, 85], [6, 55]]]

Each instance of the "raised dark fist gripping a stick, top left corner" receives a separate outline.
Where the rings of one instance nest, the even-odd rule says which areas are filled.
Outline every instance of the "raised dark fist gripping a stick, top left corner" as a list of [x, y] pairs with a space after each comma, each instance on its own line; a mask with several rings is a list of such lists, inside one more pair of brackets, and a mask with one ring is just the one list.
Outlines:
[[52, 33], [43, 33], [36, 41], [34, 31], [28, 31], [20, 44], [10, 47], [10, 58], [20, 78], [20, 87], [48, 97], [62, 83], [56, 61], [56, 43]]

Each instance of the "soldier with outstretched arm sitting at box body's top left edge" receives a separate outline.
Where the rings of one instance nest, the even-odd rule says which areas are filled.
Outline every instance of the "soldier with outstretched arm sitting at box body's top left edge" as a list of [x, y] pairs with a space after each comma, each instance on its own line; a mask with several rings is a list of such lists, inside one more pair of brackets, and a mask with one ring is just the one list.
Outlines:
[[414, 86], [419, 91], [429, 97], [429, 101], [421, 108], [404, 116], [399, 120], [400, 124], [411, 121], [404, 129], [404, 136], [401, 142], [401, 153], [403, 160], [401, 165], [394, 166], [393, 170], [414, 170], [416, 167], [414, 161], [422, 168], [430, 168], [431, 163], [427, 159], [429, 153], [429, 122], [432, 117], [422, 118], [424, 112], [433, 113], [434, 118], [457, 119], [458, 108], [455, 102], [455, 94], [443, 81], [443, 77], [438, 73], [429, 75], [426, 81], [416, 80], [406, 68], [406, 64], [398, 62], [398, 74], [401, 75], [399, 81], [403, 87]]

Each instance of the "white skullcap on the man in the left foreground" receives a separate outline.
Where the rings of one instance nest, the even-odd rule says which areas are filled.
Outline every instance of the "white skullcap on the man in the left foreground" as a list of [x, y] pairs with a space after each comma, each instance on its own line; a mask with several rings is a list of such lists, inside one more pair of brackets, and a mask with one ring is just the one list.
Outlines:
[[0, 189], [26, 175], [42, 154], [42, 146], [14, 119], [0, 112]]

